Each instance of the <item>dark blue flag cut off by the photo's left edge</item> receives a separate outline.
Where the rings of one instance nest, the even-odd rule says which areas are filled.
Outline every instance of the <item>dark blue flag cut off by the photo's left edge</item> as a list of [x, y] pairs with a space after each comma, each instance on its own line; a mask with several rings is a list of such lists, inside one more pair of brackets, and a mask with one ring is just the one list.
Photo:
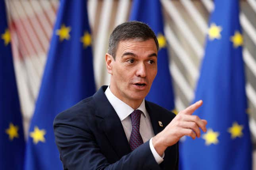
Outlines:
[[23, 170], [25, 141], [4, 1], [0, 11], [0, 169]]

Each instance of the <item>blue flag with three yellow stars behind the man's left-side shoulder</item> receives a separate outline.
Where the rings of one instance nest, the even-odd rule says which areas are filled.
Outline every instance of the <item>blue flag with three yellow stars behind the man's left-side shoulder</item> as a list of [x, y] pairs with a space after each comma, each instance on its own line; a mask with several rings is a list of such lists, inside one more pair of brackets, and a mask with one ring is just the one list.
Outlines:
[[26, 170], [60, 170], [54, 117], [95, 93], [87, 1], [62, 0], [27, 142]]

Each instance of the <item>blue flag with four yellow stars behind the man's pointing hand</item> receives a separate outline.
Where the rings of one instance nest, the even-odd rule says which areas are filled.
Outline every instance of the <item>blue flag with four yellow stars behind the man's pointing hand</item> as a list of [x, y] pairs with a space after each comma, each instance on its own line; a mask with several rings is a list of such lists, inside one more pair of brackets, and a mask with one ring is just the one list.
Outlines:
[[195, 94], [207, 132], [181, 142], [183, 170], [252, 169], [242, 45], [239, 0], [215, 0]]

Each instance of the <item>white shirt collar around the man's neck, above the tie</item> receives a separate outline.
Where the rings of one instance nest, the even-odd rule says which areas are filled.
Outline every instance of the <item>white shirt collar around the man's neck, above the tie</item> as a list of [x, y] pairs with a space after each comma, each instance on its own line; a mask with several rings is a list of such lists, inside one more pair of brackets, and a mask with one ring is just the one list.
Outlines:
[[[111, 91], [110, 86], [105, 91], [105, 95], [108, 98], [108, 101], [113, 106], [115, 112], [117, 113], [119, 119], [123, 121], [126, 117], [128, 117], [134, 110], [128, 104], [117, 98]], [[143, 112], [144, 117], [146, 117], [146, 107], [145, 107], [145, 99], [143, 99], [141, 105], [137, 110], [141, 110]]]

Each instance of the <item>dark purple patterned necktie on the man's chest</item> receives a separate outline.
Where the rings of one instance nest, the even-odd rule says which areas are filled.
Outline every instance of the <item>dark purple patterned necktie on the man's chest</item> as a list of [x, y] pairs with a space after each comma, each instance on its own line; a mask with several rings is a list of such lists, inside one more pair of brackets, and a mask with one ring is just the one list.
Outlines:
[[132, 125], [130, 147], [132, 151], [143, 144], [140, 134], [141, 113], [143, 113], [141, 110], [135, 110], [130, 114]]

